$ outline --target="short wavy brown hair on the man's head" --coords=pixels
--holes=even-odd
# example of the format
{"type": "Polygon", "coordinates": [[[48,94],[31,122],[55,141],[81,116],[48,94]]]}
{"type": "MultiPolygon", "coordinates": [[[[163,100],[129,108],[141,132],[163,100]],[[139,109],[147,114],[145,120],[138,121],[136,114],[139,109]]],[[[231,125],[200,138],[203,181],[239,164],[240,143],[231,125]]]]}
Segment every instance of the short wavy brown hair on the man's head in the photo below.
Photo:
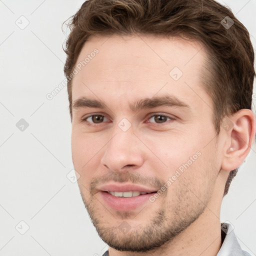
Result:
{"type": "MultiPolygon", "coordinates": [[[[192,38],[203,43],[208,64],[203,76],[213,101],[217,135],[225,116],[251,109],[254,52],[247,29],[231,10],[214,0],[87,0],[71,16],[64,73],[72,119],[71,78],[83,44],[91,35],[153,34],[192,38]]],[[[224,195],[237,169],[230,171],[224,195]]]]}

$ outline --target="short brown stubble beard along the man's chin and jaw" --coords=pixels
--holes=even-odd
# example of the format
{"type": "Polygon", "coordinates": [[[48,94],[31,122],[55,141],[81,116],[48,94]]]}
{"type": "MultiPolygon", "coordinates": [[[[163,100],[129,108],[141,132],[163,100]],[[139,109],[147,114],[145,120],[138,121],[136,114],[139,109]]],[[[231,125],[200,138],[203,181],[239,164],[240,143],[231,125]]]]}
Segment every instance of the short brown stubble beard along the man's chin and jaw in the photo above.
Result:
{"type": "MultiPolygon", "coordinates": [[[[192,205],[188,205],[189,209],[185,208],[185,205],[191,199],[189,197],[190,194],[188,196],[187,193],[189,193],[187,189],[180,190],[174,204],[168,205],[166,202],[162,204],[158,201],[158,205],[165,206],[159,207],[159,209],[148,215],[146,223],[140,224],[139,227],[128,224],[130,212],[114,211],[111,213],[106,208],[103,211],[97,210],[95,203],[98,200],[96,198],[93,199],[93,196],[90,196],[89,200],[85,200],[82,193],[81,197],[92,224],[105,243],[119,251],[148,252],[167,242],[171,242],[179,233],[192,224],[206,208],[210,196],[204,197],[203,201],[194,197],[190,201],[192,205]],[[184,200],[186,203],[184,203],[184,200]],[[120,219],[127,220],[125,224],[127,225],[126,230],[129,229],[128,231],[123,232],[122,228],[120,228],[120,223],[124,222],[120,222],[120,219]],[[116,225],[116,223],[118,224],[116,225]]],[[[148,201],[149,205],[151,203],[148,201]]],[[[98,205],[101,206],[100,203],[98,205]]],[[[143,209],[141,212],[143,212],[143,209]]],[[[139,214],[135,218],[139,219],[139,214]]]]}

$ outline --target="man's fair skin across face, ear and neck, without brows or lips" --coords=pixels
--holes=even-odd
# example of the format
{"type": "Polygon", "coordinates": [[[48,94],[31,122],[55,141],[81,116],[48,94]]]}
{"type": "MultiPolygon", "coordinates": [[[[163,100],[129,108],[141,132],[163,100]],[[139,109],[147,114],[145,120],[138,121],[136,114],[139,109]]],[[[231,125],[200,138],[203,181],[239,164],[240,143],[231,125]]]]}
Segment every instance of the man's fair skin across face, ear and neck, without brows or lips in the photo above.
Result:
{"type": "Polygon", "coordinates": [[[221,246],[220,206],[229,171],[247,156],[255,133],[251,110],[229,116],[233,126],[220,133],[212,122],[212,100],[201,72],[207,52],[198,41],[146,35],[93,36],[77,63],[99,50],[73,77],[72,102],[100,99],[106,108],[72,109],[72,160],[84,204],[109,255],[216,255],[221,246]],[[182,71],[178,80],[169,72],[182,71]],[[157,106],[133,112],[134,100],[164,94],[190,106],[157,106]],[[83,118],[100,114],[101,122],[83,118]],[[166,118],[159,122],[153,114],[166,118]],[[126,118],[131,127],[118,123],[126,118]],[[158,123],[157,123],[158,122],[158,123]],[[94,126],[88,126],[88,123],[94,126]],[[230,148],[232,148],[230,150],[230,148]],[[160,189],[182,163],[201,154],[154,202],[117,211],[97,187],[106,182],[160,189]],[[93,183],[92,183],[93,181],[93,183]],[[92,186],[94,184],[94,186],[92,186]],[[122,232],[120,225],[128,227],[122,232]]]}

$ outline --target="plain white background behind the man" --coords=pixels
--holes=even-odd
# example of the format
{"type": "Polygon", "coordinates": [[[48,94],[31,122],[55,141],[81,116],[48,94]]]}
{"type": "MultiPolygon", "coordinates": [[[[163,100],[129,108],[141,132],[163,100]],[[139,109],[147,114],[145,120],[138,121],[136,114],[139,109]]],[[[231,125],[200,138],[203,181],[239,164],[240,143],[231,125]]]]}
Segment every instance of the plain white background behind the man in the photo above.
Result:
{"type": "MultiPolygon", "coordinates": [[[[66,87],[52,100],[46,98],[64,79],[66,35],[61,24],[81,3],[0,0],[1,256],[101,255],[107,249],[89,220],[77,183],[66,177],[73,168],[66,87]],[[29,21],[24,29],[15,23],[21,15],[29,21]],[[29,124],[24,131],[16,127],[21,118],[29,124]],[[29,226],[23,235],[15,229],[21,220],[29,226]]],[[[255,48],[256,0],[224,4],[247,27],[255,48]]],[[[256,254],[255,166],[254,144],[221,210],[221,221],[234,225],[241,247],[252,255],[256,254]]],[[[25,224],[21,226],[24,230],[25,224]]]]}

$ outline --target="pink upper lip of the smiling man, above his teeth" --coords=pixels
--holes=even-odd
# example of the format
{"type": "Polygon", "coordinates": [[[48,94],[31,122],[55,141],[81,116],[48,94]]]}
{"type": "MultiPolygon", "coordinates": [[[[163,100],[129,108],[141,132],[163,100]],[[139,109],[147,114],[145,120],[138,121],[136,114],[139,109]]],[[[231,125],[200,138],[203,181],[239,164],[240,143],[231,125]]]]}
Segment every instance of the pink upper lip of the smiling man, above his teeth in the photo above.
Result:
{"type": "Polygon", "coordinates": [[[147,192],[147,193],[155,192],[158,190],[158,189],[149,188],[149,187],[145,187],[138,184],[116,184],[116,183],[105,184],[98,187],[98,189],[101,191],[112,191],[112,192],[138,191],[138,192],[147,192]]]}

